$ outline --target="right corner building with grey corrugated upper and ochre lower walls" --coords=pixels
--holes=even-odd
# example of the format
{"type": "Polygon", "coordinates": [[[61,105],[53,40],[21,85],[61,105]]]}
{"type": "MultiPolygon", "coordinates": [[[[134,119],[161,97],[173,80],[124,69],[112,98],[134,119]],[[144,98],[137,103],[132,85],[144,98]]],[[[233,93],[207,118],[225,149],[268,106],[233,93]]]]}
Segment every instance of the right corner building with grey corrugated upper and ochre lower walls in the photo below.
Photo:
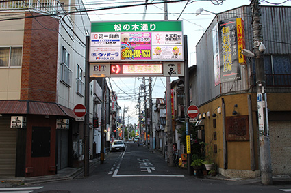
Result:
{"type": "MultiPolygon", "coordinates": [[[[272,173],[290,174],[291,8],[261,6],[261,13],[272,173]]],[[[260,176],[257,70],[251,57],[238,63],[243,56],[237,44],[244,33],[245,48],[253,50],[252,15],[247,5],[216,14],[196,46],[197,69],[190,74],[190,104],[199,106],[196,125],[205,133],[205,153],[228,177],[260,176]]]]}

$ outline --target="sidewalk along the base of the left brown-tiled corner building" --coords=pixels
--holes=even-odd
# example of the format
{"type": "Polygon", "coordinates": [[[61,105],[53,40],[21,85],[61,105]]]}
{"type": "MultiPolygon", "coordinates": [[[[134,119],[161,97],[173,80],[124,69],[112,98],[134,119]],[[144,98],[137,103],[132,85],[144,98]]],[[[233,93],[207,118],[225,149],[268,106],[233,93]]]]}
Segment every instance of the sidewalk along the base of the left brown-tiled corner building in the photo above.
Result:
{"type": "MultiPolygon", "coordinates": [[[[91,168],[100,159],[89,160],[89,167],[91,168]]],[[[84,167],[81,168],[64,168],[58,171],[56,175],[47,175],[47,176],[40,176],[40,177],[5,177],[2,179],[0,177],[0,188],[7,188],[7,187],[16,187],[19,185],[29,185],[34,183],[45,183],[50,181],[62,181],[68,179],[74,179],[84,173],[84,167]]]]}

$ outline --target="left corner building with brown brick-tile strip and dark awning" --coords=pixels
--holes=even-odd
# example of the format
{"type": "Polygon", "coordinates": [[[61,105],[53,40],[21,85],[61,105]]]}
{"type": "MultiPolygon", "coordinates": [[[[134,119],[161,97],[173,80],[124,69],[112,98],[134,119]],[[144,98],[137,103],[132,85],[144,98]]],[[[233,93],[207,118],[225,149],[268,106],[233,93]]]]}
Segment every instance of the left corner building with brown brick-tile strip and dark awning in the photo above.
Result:
{"type": "Polygon", "coordinates": [[[2,176],[54,175],[84,157],[84,124],[73,108],[84,104],[90,19],[76,10],[81,1],[0,3],[2,176]]]}

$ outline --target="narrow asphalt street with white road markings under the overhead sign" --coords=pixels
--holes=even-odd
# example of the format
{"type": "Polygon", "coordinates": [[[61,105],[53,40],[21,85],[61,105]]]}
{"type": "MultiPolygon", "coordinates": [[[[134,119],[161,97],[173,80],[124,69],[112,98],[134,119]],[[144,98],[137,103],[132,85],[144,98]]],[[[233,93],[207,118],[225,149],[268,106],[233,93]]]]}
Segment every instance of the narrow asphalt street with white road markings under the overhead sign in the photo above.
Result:
{"type": "Polygon", "coordinates": [[[0,192],[288,192],[291,188],[190,176],[186,169],[168,167],[160,153],[134,142],[125,145],[125,151],[106,155],[104,164],[97,162],[89,177],[0,188],[0,192]]]}

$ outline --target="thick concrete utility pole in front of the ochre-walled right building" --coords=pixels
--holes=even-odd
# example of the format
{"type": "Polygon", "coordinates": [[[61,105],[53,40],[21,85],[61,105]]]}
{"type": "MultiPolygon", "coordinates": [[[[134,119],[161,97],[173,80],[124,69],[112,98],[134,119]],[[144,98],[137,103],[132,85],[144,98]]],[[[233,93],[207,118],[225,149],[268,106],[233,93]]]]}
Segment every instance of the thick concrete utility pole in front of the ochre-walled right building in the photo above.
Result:
{"type": "Polygon", "coordinates": [[[260,13],[260,1],[251,2],[253,11],[253,52],[255,53],[255,74],[257,88],[257,113],[260,136],[260,168],[261,179],[264,185],[272,185],[272,166],[270,157],[270,136],[268,134],[268,108],[265,93],[266,77],[264,69],[264,58],[259,46],[262,44],[262,23],[260,13]]]}

